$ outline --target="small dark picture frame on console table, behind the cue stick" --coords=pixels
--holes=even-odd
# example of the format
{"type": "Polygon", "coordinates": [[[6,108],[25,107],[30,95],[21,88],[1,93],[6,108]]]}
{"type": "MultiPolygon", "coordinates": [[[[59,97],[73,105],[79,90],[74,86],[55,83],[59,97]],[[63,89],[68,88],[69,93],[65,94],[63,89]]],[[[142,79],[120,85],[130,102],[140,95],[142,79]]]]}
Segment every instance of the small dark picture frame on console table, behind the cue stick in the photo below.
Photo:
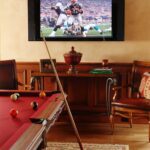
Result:
{"type": "MultiPolygon", "coordinates": [[[[56,59],[52,59],[54,65],[56,65],[56,59]]],[[[53,67],[50,59],[40,59],[40,72],[50,73],[53,72],[53,67]]]]}

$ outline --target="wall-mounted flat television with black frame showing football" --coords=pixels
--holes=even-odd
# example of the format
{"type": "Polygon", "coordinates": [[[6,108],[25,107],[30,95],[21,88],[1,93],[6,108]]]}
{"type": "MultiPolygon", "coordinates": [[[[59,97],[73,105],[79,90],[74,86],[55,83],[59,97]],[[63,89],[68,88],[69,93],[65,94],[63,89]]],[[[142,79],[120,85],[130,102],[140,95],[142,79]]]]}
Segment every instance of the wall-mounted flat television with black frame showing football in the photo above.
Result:
{"type": "Polygon", "coordinates": [[[123,41],[124,0],[28,0],[28,39],[123,41]]]}

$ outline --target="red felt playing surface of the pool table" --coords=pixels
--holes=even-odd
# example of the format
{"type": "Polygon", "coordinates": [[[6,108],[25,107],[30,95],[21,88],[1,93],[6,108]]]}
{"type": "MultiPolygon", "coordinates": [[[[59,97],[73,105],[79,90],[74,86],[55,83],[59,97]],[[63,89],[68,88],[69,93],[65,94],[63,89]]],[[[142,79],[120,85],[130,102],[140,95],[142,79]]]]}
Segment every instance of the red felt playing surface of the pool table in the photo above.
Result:
{"type": "MultiPolygon", "coordinates": [[[[17,91],[14,91],[15,93],[17,91]]],[[[10,98],[12,92],[1,92],[0,91],[0,149],[7,145],[12,145],[12,142],[16,142],[15,139],[26,131],[31,126],[30,118],[41,118],[41,114],[45,111],[46,107],[57,100],[60,97],[60,93],[47,92],[45,98],[39,97],[39,91],[34,92],[22,92],[18,91],[20,94],[18,100],[13,101],[10,98]],[[2,95],[2,96],[1,96],[2,95]],[[33,110],[31,107],[31,102],[36,101],[38,103],[38,109],[33,110]],[[18,110],[18,115],[13,118],[10,115],[10,110],[14,108],[18,110]],[[16,136],[16,138],[12,138],[16,136]],[[11,140],[10,140],[11,138],[11,140]],[[11,142],[8,142],[11,141],[11,142]],[[5,144],[7,143],[7,144],[5,144]],[[10,143],[10,144],[9,144],[10,143]]]]}

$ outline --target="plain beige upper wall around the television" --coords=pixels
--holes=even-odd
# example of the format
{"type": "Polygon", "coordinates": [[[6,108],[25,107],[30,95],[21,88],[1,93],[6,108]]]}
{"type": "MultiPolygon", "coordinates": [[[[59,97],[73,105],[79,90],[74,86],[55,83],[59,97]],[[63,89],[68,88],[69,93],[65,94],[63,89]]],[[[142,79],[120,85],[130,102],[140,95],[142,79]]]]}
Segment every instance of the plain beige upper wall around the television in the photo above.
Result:
{"type": "MultiPolygon", "coordinates": [[[[125,0],[125,41],[48,42],[53,58],[63,62],[63,54],[75,46],[82,62],[150,61],[150,0],[125,0]]],[[[28,41],[27,0],[2,0],[0,4],[0,59],[39,61],[47,58],[42,42],[28,41]]]]}

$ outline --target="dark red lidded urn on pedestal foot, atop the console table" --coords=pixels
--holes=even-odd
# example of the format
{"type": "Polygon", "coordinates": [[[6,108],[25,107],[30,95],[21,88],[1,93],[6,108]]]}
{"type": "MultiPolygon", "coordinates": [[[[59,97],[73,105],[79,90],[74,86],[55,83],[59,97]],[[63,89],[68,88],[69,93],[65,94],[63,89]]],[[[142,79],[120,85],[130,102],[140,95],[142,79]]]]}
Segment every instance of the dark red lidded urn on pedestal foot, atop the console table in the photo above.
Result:
{"type": "Polygon", "coordinates": [[[71,47],[71,51],[64,54],[64,59],[67,65],[69,65],[69,69],[67,71],[68,74],[77,74],[78,71],[76,69],[76,65],[78,65],[81,61],[82,53],[76,52],[74,47],[71,47]]]}

